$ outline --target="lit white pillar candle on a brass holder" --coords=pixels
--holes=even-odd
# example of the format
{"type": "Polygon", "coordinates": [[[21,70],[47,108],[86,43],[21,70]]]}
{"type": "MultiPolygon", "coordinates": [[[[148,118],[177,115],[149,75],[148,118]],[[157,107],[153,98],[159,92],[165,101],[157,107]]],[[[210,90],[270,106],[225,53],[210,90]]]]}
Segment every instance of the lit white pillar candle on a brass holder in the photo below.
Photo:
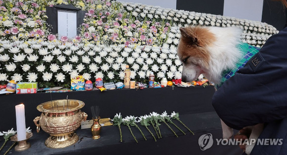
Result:
{"type": "Polygon", "coordinates": [[[17,139],[18,141],[26,139],[26,124],[25,124],[25,106],[19,104],[15,106],[16,109],[16,125],[17,125],[17,139]]]}

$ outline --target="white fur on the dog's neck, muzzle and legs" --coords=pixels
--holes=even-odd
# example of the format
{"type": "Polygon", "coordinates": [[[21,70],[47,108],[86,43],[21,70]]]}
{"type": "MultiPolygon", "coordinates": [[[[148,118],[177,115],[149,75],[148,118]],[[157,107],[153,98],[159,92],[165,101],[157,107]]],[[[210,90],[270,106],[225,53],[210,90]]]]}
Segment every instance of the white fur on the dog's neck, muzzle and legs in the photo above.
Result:
{"type": "MultiPolygon", "coordinates": [[[[240,43],[241,29],[237,27],[220,28],[220,27],[205,27],[207,31],[214,34],[213,42],[208,42],[205,48],[210,59],[208,66],[201,64],[198,57],[191,56],[189,61],[191,63],[183,63],[182,76],[186,81],[193,81],[202,73],[209,81],[219,84],[221,81],[221,74],[224,70],[233,69],[236,63],[243,57],[243,53],[239,51],[237,45],[240,43]]],[[[179,44],[181,46],[181,44],[179,44]]],[[[179,58],[183,61],[184,57],[181,51],[178,51],[179,58]]],[[[223,121],[222,130],[223,138],[230,139],[233,136],[233,129],[228,127],[223,121]]],[[[263,124],[249,126],[253,129],[249,139],[256,139],[263,130],[263,124]]],[[[255,144],[246,145],[245,153],[250,155],[255,144]]]]}

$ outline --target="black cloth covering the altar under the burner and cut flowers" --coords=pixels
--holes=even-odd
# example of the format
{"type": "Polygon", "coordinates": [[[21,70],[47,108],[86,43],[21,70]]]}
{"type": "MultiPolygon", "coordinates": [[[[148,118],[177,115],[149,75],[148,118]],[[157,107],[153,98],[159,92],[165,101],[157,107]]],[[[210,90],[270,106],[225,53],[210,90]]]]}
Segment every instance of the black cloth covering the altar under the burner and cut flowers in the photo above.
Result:
{"type": "MultiPolygon", "coordinates": [[[[80,139],[75,145],[63,149],[49,149],[44,142],[48,134],[41,130],[36,132],[36,126],[33,119],[40,116],[36,109],[37,105],[49,101],[50,93],[36,94],[9,94],[1,95],[0,108],[0,131],[6,131],[11,127],[16,129],[15,108],[14,106],[23,102],[25,104],[26,126],[31,126],[34,136],[29,139],[32,147],[23,152],[15,152],[12,149],[9,153],[12,155],[240,155],[241,150],[238,146],[216,145],[215,138],[222,137],[220,119],[216,115],[211,105],[211,97],[214,88],[209,87],[192,87],[172,89],[144,89],[144,90],[108,90],[100,91],[83,91],[69,93],[52,93],[52,99],[65,99],[68,95],[70,99],[78,99],[85,102],[81,109],[88,114],[91,119],[92,105],[100,106],[101,118],[113,118],[115,113],[121,112],[123,117],[127,115],[145,115],[154,111],[162,113],[172,111],[180,113],[181,120],[191,128],[194,135],[191,134],[178,121],[174,121],[185,133],[169,124],[179,135],[176,137],[171,130],[163,123],[160,125],[162,138],[155,142],[149,132],[140,126],[147,140],[145,141],[137,128],[132,126],[132,130],[139,143],[136,143],[127,126],[122,125],[123,142],[119,142],[120,135],[117,126],[103,126],[101,138],[93,140],[91,138],[91,129],[78,128],[75,132],[80,139]],[[198,145],[198,138],[202,134],[211,133],[214,144],[210,149],[201,151],[198,145]]],[[[152,126],[149,129],[156,136],[152,126]]],[[[0,137],[0,145],[3,139],[0,137]]],[[[3,154],[12,142],[8,141],[0,154],[3,154]]]]}

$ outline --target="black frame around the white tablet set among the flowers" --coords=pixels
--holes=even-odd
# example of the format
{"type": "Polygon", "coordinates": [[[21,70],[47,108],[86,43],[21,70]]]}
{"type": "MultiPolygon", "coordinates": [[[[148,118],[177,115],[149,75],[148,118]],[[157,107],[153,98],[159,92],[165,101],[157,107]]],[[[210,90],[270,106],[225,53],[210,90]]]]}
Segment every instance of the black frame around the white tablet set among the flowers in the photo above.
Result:
{"type": "Polygon", "coordinates": [[[53,7],[47,6],[46,13],[48,16],[48,29],[52,34],[58,34],[58,10],[77,12],[77,35],[80,34],[79,27],[84,23],[84,16],[87,11],[81,10],[72,4],[59,4],[53,7]]]}

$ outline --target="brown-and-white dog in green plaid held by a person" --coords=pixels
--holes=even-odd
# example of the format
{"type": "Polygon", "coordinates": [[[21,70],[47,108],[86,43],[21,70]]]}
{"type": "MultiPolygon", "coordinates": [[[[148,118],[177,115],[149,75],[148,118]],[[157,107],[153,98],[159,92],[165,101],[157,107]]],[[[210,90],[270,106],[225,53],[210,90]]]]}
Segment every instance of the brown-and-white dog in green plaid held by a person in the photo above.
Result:
{"type": "MultiPolygon", "coordinates": [[[[237,69],[237,63],[244,54],[239,45],[242,31],[236,27],[199,27],[180,28],[182,37],[178,44],[178,57],[183,62],[182,81],[193,81],[203,74],[215,85],[222,84],[222,73],[237,69]]],[[[223,138],[230,139],[233,129],[221,121],[223,138]]],[[[263,129],[263,124],[249,126],[252,133],[249,137],[256,139],[263,129]]],[[[245,153],[249,155],[254,147],[246,145],[245,153]]]]}

